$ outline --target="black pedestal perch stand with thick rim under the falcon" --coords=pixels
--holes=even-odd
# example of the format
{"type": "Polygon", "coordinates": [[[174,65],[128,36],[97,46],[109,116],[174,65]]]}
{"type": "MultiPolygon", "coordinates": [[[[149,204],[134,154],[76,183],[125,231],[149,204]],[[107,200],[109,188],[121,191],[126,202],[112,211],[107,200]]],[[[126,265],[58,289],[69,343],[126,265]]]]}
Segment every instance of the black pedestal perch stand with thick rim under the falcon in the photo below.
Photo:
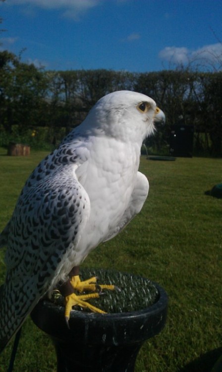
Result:
{"type": "MultiPolygon", "coordinates": [[[[98,275],[97,271],[93,274],[98,275]]],[[[137,279],[138,276],[130,276],[131,282],[136,283],[137,279]]],[[[41,301],[31,317],[53,340],[57,372],[133,372],[144,341],[160,333],[166,323],[166,292],[150,283],[157,294],[153,305],[108,314],[71,311],[70,329],[64,320],[63,306],[41,301]]],[[[144,296],[143,289],[141,292],[144,296]]]]}

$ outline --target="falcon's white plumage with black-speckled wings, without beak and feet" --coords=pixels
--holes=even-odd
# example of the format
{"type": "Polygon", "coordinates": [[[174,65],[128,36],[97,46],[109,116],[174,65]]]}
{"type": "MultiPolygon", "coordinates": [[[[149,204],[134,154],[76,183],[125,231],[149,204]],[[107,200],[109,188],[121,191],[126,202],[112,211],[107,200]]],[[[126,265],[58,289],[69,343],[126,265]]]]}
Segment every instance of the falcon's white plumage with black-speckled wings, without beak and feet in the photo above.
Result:
{"type": "Polygon", "coordinates": [[[140,148],[155,110],[140,93],[103,97],[30,175],[0,235],[7,245],[0,350],[40,298],[141,210],[149,183],[138,172],[140,148]]]}

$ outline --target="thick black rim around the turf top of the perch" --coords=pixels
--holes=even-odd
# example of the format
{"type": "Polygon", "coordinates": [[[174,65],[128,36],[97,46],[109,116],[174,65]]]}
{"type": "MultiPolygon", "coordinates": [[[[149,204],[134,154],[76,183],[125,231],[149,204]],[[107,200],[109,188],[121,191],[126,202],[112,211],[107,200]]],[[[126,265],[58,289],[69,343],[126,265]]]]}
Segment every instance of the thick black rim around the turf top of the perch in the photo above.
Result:
{"type": "Polygon", "coordinates": [[[73,310],[68,328],[64,307],[43,300],[32,311],[31,317],[40,329],[60,341],[76,340],[78,343],[91,345],[142,342],[160,333],[166,323],[166,292],[157,283],[151,283],[157,287],[159,297],[153,305],[143,310],[108,314],[73,310]]]}

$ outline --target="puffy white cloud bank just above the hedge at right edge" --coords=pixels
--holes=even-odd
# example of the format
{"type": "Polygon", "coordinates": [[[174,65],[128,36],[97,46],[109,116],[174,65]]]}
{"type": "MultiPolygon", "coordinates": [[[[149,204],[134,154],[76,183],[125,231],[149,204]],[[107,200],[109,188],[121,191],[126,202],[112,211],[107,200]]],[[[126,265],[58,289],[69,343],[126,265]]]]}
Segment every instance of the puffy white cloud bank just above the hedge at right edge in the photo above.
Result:
{"type": "Polygon", "coordinates": [[[159,58],[163,61],[175,64],[187,63],[222,63],[222,44],[205,45],[196,50],[185,47],[166,47],[159,53],[159,58]]]}

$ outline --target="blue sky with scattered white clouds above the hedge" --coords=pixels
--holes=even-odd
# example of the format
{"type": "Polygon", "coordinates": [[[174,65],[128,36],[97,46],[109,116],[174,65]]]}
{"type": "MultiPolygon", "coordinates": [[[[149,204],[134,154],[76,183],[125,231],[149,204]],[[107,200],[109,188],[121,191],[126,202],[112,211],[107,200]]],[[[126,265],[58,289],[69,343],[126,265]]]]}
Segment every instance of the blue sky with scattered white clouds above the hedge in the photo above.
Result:
{"type": "Polygon", "coordinates": [[[47,69],[222,61],[222,0],[5,0],[0,46],[47,69]]]}

